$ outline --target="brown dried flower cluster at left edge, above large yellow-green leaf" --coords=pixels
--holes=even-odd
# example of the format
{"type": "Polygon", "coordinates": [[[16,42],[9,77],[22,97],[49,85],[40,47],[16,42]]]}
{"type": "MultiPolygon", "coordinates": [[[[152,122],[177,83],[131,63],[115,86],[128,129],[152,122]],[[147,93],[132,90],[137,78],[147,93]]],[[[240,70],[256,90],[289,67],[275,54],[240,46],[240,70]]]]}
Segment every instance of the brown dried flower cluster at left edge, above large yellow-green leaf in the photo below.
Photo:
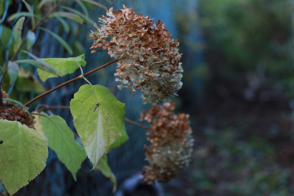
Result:
{"type": "MultiPolygon", "coordinates": [[[[1,88],[1,93],[3,98],[9,98],[9,94],[6,94],[5,91],[1,88]]],[[[11,101],[3,100],[4,104],[11,103],[11,101]]],[[[29,128],[34,128],[34,123],[36,123],[35,120],[31,120],[29,114],[26,112],[26,110],[22,107],[19,107],[17,104],[15,106],[12,106],[11,108],[3,108],[0,106],[0,118],[14,121],[16,117],[16,120],[20,122],[22,125],[26,125],[29,128]]],[[[34,119],[35,117],[32,116],[34,119]]]]}

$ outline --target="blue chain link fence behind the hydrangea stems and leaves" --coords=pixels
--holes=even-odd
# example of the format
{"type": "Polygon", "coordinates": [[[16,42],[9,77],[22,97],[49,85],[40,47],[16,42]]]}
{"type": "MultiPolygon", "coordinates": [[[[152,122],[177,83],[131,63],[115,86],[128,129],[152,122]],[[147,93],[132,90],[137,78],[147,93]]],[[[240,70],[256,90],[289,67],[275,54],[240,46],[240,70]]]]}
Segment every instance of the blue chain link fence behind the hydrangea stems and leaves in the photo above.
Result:
{"type": "MultiPolygon", "coordinates": [[[[11,57],[11,50],[9,47],[13,43],[13,33],[11,33],[9,39],[2,39],[4,38],[3,33],[7,33],[4,32],[4,28],[10,28],[11,32],[13,32],[14,25],[17,21],[17,19],[15,19],[11,22],[7,22],[7,18],[12,14],[11,12],[21,12],[25,8],[21,0],[15,0],[10,6],[8,0],[1,1],[2,16],[0,21],[0,64],[3,66],[7,64],[9,57],[11,57]]],[[[33,3],[32,1],[28,2],[33,3]]],[[[161,21],[165,22],[166,28],[169,32],[171,32],[171,34],[173,34],[173,38],[177,38],[178,32],[176,30],[173,14],[176,11],[175,8],[179,7],[179,1],[173,1],[173,4],[171,4],[171,1],[168,0],[151,0],[148,2],[148,4],[143,0],[118,0],[113,1],[113,5],[109,4],[108,2],[100,3],[105,4],[108,8],[113,6],[114,10],[122,9],[122,5],[125,4],[128,7],[133,7],[135,12],[138,11],[139,13],[144,14],[144,16],[151,16],[151,18],[155,18],[154,21],[160,19],[161,21]]],[[[67,4],[67,6],[79,10],[79,6],[75,4],[74,1],[67,4]]],[[[36,9],[36,7],[34,9],[36,9]]],[[[89,11],[89,14],[90,18],[98,24],[98,17],[101,17],[103,14],[105,15],[105,10],[99,7],[95,7],[93,10],[89,11]]],[[[91,32],[91,29],[95,29],[92,24],[80,25],[70,20],[66,21],[70,25],[69,33],[66,33],[62,26],[59,25],[59,21],[55,19],[48,20],[42,25],[42,27],[59,34],[67,43],[69,43],[69,45],[74,49],[74,56],[85,53],[85,61],[87,62],[87,65],[83,68],[84,73],[112,60],[106,52],[90,54],[91,50],[89,48],[91,47],[93,40],[88,36],[88,34],[91,32]]],[[[23,38],[29,29],[29,18],[26,18],[22,33],[23,38]]],[[[40,31],[38,29],[36,31],[36,37],[36,43],[30,52],[39,58],[69,57],[69,54],[66,52],[64,47],[62,47],[59,42],[56,41],[56,39],[50,36],[49,33],[40,31]]],[[[19,57],[20,55],[18,58],[19,57]]],[[[26,68],[26,66],[28,65],[24,65],[24,68],[26,68]]],[[[141,92],[129,95],[127,90],[123,89],[122,91],[119,91],[116,88],[118,83],[115,81],[115,77],[113,76],[115,69],[116,65],[112,64],[95,73],[92,73],[91,75],[87,76],[87,79],[92,84],[100,84],[110,88],[111,92],[113,92],[118,100],[126,104],[127,113],[125,117],[134,121],[138,121],[139,111],[144,107],[150,107],[150,105],[143,106],[141,104],[141,92]]],[[[34,74],[36,77],[38,76],[36,69],[34,70],[34,74]]],[[[77,70],[75,73],[66,75],[63,78],[49,78],[45,83],[43,83],[43,85],[47,90],[49,90],[79,75],[80,70],[77,70]]],[[[34,108],[40,103],[45,103],[47,105],[69,105],[69,102],[73,98],[74,93],[76,93],[79,87],[83,84],[86,84],[84,80],[78,80],[70,83],[38,100],[35,105],[29,105],[29,108],[34,108]]],[[[15,83],[13,83],[9,89],[4,90],[6,90],[8,93],[11,93],[13,89],[15,89],[15,83]]],[[[22,93],[19,91],[16,92],[18,93],[19,101],[23,101],[25,97],[23,97],[22,93]]],[[[26,96],[28,96],[27,98],[29,99],[34,98],[35,95],[36,94],[34,91],[26,93],[26,96]]],[[[75,131],[73,117],[70,113],[70,110],[56,109],[52,110],[52,112],[55,115],[60,115],[62,118],[64,118],[69,127],[75,131]]],[[[129,135],[129,140],[120,148],[114,149],[108,154],[108,163],[113,173],[117,177],[118,188],[124,179],[139,172],[143,165],[148,164],[146,161],[144,161],[145,155],[143,150],[143,144],[146,143],[146,130],[128,123],[126,123],[126,130],[129,135]]],[[[65,165],[63,165],[58,160],[56,153],[54,153],[54,151],[50,148],[49,157],[46,164],[47,166],[41,172],[41,174],[38,175],[36,179],[29,182],[29,185],[21,188],[21,190],[19,190],[15,195],[112,195],[112,184],[110,180],[104,177],[99,170],[90,171],[92,166],[88,159],[83,162],[82,168],[78,171],[76,182],[65,165]]],[[[3,190],[3,184],[1,184],[0,191],[3,190]]]]}

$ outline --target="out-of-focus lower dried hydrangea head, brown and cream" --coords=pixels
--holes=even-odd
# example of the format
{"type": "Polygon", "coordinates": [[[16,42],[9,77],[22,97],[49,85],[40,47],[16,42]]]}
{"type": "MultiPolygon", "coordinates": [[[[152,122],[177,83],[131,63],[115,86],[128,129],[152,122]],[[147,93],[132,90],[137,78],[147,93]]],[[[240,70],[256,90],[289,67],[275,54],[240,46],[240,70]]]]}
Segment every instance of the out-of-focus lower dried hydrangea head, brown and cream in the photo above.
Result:
{"type": "Polygon", "coordinates": [[[141,121],[151,124],[147,133],[151,146],[144,147],[150,166],[144,166],[142,172],[143,181],[149,184],[154,180],[167,182],[189,164],[194,141],[189,115],[176,115],[174,109],[174,103],[153,103],[148,112],[141,112],[141,121]]]}

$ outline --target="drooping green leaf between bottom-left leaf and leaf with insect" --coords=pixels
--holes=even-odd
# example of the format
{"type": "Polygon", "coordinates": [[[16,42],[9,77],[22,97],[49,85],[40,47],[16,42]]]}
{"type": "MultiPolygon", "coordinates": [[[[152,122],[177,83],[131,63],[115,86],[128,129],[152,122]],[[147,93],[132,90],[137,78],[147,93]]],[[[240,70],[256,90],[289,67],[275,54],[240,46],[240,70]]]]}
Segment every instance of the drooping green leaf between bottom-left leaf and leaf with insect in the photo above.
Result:
{"type": "MultiPolygon", "coordinates": [[[[41,114],[47,116],[45,112],[41,114]]],[[[64,163],[76,180],[76,173],[87,157],[85,149],[76,142],[74,133],[60,116],[41,116],[41,124],[49,147],[56,152],[59,160],[64,163]]]]}

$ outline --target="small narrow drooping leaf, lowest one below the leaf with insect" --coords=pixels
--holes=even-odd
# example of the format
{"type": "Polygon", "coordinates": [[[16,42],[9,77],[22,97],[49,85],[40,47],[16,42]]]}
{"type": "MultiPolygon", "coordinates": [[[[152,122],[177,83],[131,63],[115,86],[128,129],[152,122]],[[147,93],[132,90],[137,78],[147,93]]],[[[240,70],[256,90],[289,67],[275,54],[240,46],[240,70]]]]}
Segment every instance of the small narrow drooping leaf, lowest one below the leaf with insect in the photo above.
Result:
{"type": "Polygon", "coordinates": [[[111,171],[108,163],[107,163],[107,156],[106,154],[104,154],[101,159],[99,160],[99,162],[97,163],[96,166],[102,173],[103,175],[105,175],[106,177],[108,177],[110,179],[110,181],[113,184],[113,189],[112,192],[114,193],[116,191],[116,177],[113,174],[113,172],[111,171]]]}

